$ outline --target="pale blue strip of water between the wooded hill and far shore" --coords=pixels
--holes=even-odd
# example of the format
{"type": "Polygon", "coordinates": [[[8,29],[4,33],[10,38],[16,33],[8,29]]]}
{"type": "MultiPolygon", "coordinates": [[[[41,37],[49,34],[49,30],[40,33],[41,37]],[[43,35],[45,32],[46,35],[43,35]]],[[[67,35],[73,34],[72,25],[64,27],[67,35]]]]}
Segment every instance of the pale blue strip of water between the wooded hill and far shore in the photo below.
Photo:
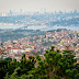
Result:
{"type": "MultiPolygon", "coordinates": [[[[24,25],[0,25],[0,29],[20,29],[24,25]]],[[[41,25],[27,26],[27,30],[42,30],[42,31],[49,31],[49,30],[57,30],[57,29],[79,31],[79,26],[41,26],[41,25]]]]}

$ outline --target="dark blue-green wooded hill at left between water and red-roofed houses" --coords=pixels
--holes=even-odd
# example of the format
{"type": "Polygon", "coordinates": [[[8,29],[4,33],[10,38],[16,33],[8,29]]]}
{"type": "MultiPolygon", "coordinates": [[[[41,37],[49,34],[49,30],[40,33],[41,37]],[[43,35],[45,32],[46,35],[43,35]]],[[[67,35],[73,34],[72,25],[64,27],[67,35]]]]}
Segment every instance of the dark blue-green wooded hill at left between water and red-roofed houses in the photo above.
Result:
{"type": "Polygon", "coordinates": [[[2,42],[4,41],[8,41],[8,40],[19,40],[19,38],[22,38],[22,37],[25,37],[25,36],[33,36],[33,35],[36,35],[38,33],[44,33],[40,30],[21,30],[21,29],[18,29],[18,30],[1,30],[0,32],[0,38],[2,42]]]}

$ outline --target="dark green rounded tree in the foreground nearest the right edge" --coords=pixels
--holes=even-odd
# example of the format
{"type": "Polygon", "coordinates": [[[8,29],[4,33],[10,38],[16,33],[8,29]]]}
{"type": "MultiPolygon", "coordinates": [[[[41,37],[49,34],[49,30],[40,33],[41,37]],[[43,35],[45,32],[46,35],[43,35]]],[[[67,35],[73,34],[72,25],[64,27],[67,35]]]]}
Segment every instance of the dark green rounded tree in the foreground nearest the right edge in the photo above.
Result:
{"type": "Polygon", "coordinates": [[[64,50],[59,63],[61,70],[60,76],[65,79],[78,79],[78,69],[75,67],[77,59],[75,58],[72,50],[64,50]]]}

